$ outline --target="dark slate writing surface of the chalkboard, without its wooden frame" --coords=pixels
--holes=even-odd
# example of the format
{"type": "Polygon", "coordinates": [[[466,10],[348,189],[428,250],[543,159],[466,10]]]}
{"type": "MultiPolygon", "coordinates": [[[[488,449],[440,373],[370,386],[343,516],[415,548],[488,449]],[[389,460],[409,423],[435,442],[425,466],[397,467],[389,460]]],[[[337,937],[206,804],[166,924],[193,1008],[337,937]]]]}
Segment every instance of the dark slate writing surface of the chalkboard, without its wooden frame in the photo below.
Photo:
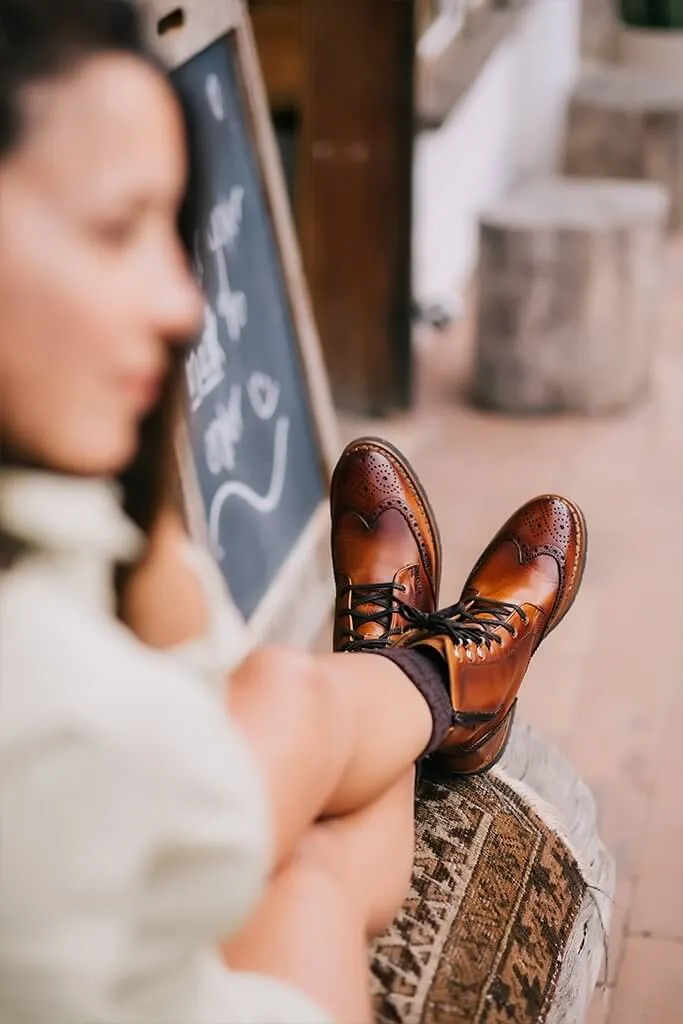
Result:
{"type": "Polygon", "coordinates": [[[326,484],[231,43],[174,77],[202,167],[195,255],[206,303],[186,365],[190,436],[211,547],[249,618],[326,484]]]}

